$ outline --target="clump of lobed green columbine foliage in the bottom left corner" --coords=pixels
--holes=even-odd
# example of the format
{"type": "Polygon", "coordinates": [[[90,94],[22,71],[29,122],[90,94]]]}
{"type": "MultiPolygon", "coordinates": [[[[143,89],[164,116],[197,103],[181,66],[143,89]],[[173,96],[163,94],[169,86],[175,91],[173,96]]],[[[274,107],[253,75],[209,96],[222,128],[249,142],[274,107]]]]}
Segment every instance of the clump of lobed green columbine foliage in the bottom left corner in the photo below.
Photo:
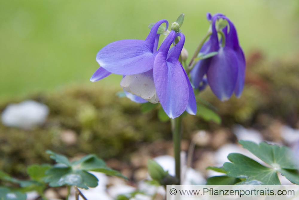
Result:
{"type": "Polygon", "coordinates": [[[18,199],[25,200],[25,192],[36,191],[45,198],[44,190],[48,187],[74,186],[84,189],[96,187],[98,179],[88,171],[102,172],[106,175],[118,176],[127,179],[120,172],[112,170],[97,156],[90,154],[80,160],[70,162],[67,157],[47,151],[56,165],[48,164],[32,165],[27,168],[30,180],[19,180],[0,171],[0,180],[4,186],[0,186],[0,200],[18,199]]]}

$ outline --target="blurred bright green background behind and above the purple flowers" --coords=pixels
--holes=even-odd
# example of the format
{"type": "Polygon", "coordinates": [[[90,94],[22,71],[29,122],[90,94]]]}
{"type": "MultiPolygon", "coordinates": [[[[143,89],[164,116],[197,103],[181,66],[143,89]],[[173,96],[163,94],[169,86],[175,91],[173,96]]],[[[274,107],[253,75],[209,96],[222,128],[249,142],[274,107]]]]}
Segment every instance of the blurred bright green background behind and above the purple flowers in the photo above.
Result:
{"type": "Polygon", "coordinates": [[[298,55],[297,0],[1,0],[0,98],[71,83],[118,87],[116,75],[89,82],[101,48],[145,39],[149,23],[171,23],[184,13],[181,29],[191,55],[208,29],[207,12],[234,22],[245,54],[260,49],[271,59],[298,55]]]}

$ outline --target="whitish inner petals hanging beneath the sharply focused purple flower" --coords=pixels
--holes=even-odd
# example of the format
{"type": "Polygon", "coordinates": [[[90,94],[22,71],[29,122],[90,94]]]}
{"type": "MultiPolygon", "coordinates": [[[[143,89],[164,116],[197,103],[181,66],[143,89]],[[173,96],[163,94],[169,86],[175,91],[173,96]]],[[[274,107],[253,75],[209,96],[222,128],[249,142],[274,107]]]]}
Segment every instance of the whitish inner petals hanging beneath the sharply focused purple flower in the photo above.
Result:
{"type": "Polygon", "coordinates": [[[134,75],[126,75],[120,81],[120,87],[123,87],[125,91],[135,94],[143,99],[149,100],[150,102],[152,102],[152,100],[155,101],[156,99],[156,88],[152,71],[134,75]]]}

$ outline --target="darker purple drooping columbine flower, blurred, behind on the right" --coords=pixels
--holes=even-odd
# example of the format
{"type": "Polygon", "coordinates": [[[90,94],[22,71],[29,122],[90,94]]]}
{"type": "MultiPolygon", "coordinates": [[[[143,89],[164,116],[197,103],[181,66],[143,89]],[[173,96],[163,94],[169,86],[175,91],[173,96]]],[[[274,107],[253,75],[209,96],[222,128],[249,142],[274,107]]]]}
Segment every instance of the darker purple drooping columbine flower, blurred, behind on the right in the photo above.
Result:
{"type": "Polygon", "coordinates": [[[212,23],[212,34],[200,50],[203,54],[218,52],[213,57],[199,60],[191,70],[191,80],[196,88],[205,81],[205,75],[213,93],[222,101],[228,100],[233,93],[240,97],[245,79],[245,57],[239,46],[237,31],[234,24],[225,15],[207,13],[207,19],[212,23]],[[226,19],[228,26],[222,29],[225,45],[221,46],[216,30],[216,21],[226,19]]]}

